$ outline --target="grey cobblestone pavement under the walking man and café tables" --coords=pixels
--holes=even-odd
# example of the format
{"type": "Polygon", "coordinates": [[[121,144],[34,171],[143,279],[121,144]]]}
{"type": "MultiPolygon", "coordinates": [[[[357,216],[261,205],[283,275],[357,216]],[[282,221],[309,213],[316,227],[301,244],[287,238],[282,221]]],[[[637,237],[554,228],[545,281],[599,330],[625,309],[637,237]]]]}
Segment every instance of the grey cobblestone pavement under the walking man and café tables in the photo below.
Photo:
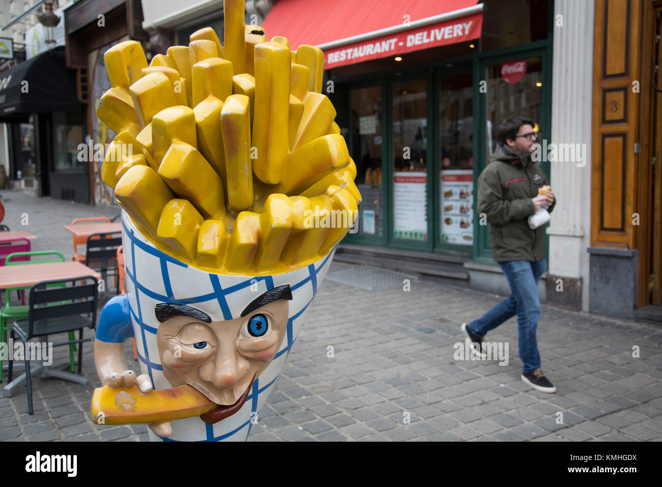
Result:
{"type": "MultiPolygon", "coordinates": [[[[40,237],[33,248],[64,250],[67,258],[71,237],[62,225],[78,216],[117,215],[115,208],[17,191],[3,197],[3,223],[18,229],[27,212],[28,231],[40,237]]],[[[349,267],[334,262],[329,272],[349,267]]],[[[453,345],[464,341],[460,323],[500,299],[428,278],[411,282],[409,292],[325,280],[249,441],[661,439],[659,327],[542,305],[540,355],[557,387],[544,394],[520,380],[515,319],[487,337],[509,345],[508,364],[453,356],[453,345]]],[[[64,349],[56,347],[55,364],[67,361],[64,349]]],[[[87,386],[34,379],[34,415],[26,413],[24,387],[0,398],[0,440],[147,440],[143,425],[91,422],[89,401],[99,386],[92,349],[83,346],[87,386]]],[[[130,356],[128,344],[126,351],[130,356]]]]}

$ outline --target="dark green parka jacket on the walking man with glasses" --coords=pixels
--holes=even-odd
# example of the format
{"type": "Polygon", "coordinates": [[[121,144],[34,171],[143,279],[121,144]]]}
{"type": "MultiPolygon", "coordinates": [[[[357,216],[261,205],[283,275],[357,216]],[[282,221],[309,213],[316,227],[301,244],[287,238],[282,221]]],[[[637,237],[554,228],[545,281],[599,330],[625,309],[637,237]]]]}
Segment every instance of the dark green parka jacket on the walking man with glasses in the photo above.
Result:
{"type": "MultiPolygon", "coordinates": [[[[478,178],[478,214],[487,215],[496,262],[545,258],[545,227],[530,229],[528,217],[535,213],[533,197],[538,188],[549,184],[538,162],[530,154],[518,156],[510,148],[498,146],[490,164],[478,178]]],[[[556,199],[547,209],[551,213],[556,199]]]]}

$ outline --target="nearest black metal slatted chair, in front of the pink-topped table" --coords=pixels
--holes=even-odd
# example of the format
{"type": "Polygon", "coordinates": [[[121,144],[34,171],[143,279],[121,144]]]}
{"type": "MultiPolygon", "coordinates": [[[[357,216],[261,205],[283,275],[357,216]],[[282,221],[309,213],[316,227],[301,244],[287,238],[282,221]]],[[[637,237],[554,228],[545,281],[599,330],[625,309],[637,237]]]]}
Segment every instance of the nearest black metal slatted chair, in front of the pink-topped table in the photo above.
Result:
{"type": "MultiPolygon", "coordinates": [[[[28,304],[28,319],[14,322],[11,331],[12,339],[16,335],[24,344],[25,375],[28,389],[28,413],[32,414],[32,378],[30,376],[30,356],[26,344],[36,337],[48,337],[58,333],[69,333],[78,330],[78,339],[54,343],[54,347],[79,343],[78,373],[83,370],[83,342],[94,337],[83,339],[84,328],[95,328],[97,323],[98,281],[93,276],[81,276],[74,279],[51,280],[37,282],[30,288],[28,304]],[[70,286],[68,286],[70,284],[70,286]],[[64,287],[52,287],[52,286],[64,287]],[[83,315],[91,315],[87,318],[83,315]]],[[[48,338],[46,338],[48,340],[48,338]]],[[[13,360],[9,356],[9,382],[13,372],[13,360]]]]}

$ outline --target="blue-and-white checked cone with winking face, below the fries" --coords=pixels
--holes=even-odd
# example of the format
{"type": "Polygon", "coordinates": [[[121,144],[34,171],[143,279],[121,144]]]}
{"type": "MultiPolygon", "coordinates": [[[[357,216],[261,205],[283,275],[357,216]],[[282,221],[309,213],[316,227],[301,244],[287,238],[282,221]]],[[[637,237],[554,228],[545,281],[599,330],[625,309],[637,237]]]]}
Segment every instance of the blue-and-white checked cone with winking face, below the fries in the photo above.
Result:
{"type": "Polygon", "coordinates": [[[334,251],[286,274],[227,276],[164,254],[124,212],[122,230],[125,299],[140,372],[154,386],[150,394],[187,384],[213,403],[199,417],[171,421],[168,437],[151,430],[150,437],[244,441],[301,331],[304,311],[334,251]]]}

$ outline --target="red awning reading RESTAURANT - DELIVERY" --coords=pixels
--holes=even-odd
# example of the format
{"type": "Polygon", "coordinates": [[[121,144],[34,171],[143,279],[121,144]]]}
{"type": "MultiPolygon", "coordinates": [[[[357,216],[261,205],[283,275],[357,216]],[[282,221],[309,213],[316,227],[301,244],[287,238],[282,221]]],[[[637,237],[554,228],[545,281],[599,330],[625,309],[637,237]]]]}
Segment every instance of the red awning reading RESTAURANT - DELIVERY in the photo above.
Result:
{"type": "Polygon", "coordinates": [[[312,44],[324,68],[338,68],[455,44],[481,36],[477,0],[279,0],[262,27],[267,39],[285,36],[291,49],[312,44]]]}

